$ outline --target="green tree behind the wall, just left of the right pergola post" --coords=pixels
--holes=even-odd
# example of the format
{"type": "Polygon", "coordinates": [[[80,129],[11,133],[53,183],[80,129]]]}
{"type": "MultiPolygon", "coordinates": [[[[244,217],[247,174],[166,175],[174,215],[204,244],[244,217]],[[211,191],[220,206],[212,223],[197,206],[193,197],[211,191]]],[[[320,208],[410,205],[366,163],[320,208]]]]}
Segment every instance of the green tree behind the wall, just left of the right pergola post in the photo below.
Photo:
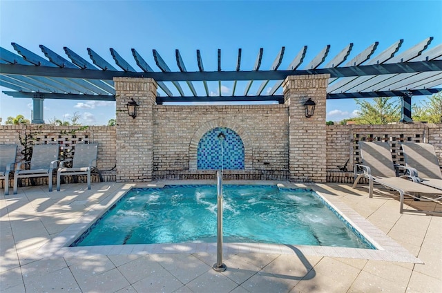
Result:
{"type": "Polygon", "coordinates": [[[401,117],[401,105],[391,97],[375,97],[372,102],[356,100],[359,115],[354,119],[357,124],[388,124],[401,117]]]}

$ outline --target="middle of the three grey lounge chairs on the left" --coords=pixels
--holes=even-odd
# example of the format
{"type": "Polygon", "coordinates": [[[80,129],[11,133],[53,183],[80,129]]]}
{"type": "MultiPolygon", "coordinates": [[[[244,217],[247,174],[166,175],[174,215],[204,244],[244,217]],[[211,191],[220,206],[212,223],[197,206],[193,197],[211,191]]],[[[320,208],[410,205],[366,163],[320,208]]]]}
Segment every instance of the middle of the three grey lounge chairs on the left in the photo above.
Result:
{"type": "Polygon", "coordinates": [[[52,171],[57,167],[58,144],[35,144],[30,162],[19,162],[14,173],[14,194],[20,178],[48,177],[49,191],[52,191],[52,171]],[[30,163],[29,169],[21,170],[23,164],[30,163]]]}

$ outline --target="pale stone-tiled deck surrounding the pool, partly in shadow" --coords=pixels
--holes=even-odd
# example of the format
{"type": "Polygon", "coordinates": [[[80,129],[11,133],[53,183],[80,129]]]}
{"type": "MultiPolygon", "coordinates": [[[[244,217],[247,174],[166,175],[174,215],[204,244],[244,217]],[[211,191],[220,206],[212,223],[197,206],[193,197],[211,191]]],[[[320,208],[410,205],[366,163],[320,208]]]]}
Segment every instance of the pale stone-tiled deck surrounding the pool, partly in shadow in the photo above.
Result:
{"type": "MultiPolygon", "coordinates": [[[[173,182],[143,186],[166,183],[173,182]]],[[[224,243],[227,270],[218,273],[213,243],[65,247],[133,186],[102,182],[87,190],[86,184],[70,184],[59,192],[23,187],[10,196],[1,189],[0,291],[442,292],[442,216],[399,214],[397,196],[376,189],[368,198],[364,185],[308,187],[378,250],[224,243]]],[[[405,203],[442,211],[440,202],[405,203]]]]}

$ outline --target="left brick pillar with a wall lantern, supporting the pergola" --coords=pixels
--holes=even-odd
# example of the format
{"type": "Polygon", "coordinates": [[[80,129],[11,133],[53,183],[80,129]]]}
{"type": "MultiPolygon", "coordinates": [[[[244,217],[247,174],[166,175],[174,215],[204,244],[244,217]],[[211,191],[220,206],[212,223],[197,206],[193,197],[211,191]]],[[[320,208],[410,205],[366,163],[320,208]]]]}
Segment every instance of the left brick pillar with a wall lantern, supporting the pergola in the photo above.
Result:
{"type": "Polygon", "coordinates": [[[151,78],[114,77],[117,106],[117,182],[152,180],[153,105],[157,84],[151,78]],[[135,100],[135,119],[128,115],[126,104],[135,100]]]}

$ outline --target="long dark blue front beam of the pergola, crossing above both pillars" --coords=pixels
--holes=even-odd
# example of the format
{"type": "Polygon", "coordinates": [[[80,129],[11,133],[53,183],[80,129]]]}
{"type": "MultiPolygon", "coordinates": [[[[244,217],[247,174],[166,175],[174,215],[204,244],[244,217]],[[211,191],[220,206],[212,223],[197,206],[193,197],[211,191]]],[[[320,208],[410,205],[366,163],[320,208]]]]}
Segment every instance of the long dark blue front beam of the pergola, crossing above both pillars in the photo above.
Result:
{"type": "Polygon", "coordinates": [[[374,64],[309,70],[252,70],[252,71],[193,71],[193,72],[122,72],[119,70],[90,70],[58,68],[49,66],[28,66],[21,64],[0,64],[0,74],[30,75],[57,78],[107,79],[113,77],[150,77],[157,82],[218,81],[218,80],[282,80],[289,75],[329,74],[330,77],[354,77],[384,75],[392,73],[419,73],[442,71],[442,60],[425,62],[404,62],[395,64],[374,64]]]}

